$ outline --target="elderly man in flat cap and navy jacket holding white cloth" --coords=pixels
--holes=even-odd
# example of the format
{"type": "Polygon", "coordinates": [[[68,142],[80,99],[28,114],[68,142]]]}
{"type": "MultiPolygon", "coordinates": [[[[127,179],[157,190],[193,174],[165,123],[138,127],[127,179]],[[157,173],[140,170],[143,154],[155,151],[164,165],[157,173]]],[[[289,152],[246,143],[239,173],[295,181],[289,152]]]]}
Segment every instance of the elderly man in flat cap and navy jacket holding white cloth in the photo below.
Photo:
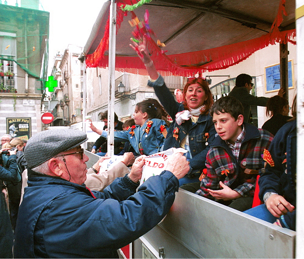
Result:
{"type": "Polygon", "coordinates": [[[178,179],[189,170],[175,154],[160,176],[139,186],[144,156],[104,193],[84,182],[88,157],[78,130],[42,131],[27,142],[28,187],[19,208],[14,258],[118,258],[117,249],[152,229],[168,213],[178,179]]]}

